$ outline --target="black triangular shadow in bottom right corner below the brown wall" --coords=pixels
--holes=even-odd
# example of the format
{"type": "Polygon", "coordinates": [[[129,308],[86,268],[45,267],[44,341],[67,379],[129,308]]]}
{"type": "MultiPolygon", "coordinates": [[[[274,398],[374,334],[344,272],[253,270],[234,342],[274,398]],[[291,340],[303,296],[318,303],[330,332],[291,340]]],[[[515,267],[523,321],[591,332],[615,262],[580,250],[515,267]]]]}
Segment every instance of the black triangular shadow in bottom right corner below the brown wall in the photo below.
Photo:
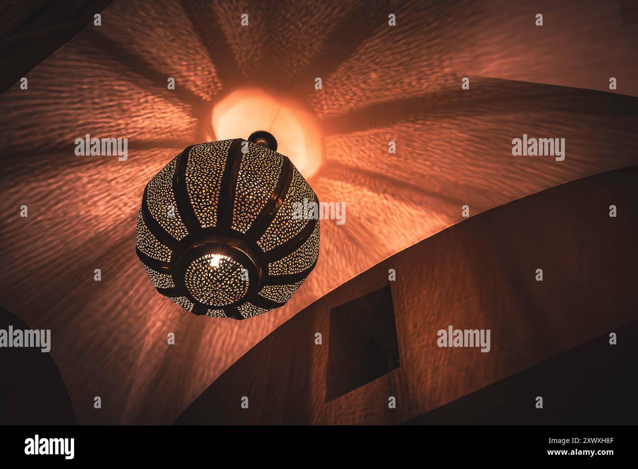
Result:
{"type": "Polygon", "coordinates": [[[604,334],[406,424],[634,425],[638,321],[611,332],[616,345],[604,334]]]}

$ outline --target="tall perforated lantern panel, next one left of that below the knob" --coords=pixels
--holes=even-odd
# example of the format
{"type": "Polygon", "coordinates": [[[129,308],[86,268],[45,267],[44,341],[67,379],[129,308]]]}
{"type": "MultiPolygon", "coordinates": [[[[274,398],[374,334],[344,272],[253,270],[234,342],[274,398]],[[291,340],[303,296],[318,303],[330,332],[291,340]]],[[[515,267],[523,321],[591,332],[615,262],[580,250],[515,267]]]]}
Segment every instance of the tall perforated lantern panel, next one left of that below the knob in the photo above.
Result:
{"type": "Polygon", "coordinates": [[[186,189],[202,227],[217,225],[219,188],[232,140],[195,145],[186,162],[186,189]]]}

